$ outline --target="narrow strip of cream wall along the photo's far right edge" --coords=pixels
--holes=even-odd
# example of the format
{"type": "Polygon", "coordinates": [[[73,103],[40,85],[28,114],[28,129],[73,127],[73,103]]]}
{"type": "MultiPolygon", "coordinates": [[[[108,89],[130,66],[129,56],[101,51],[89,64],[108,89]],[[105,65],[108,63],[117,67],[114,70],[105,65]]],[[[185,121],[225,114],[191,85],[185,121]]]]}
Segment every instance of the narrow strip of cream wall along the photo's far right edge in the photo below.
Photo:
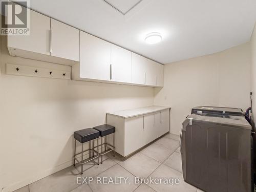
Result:
{"type": "Polygon", "coordinates": [[[256,114],[256,24],[251,36],[251,91],[252,91],[252,112],[255,123],[256,114]]]}

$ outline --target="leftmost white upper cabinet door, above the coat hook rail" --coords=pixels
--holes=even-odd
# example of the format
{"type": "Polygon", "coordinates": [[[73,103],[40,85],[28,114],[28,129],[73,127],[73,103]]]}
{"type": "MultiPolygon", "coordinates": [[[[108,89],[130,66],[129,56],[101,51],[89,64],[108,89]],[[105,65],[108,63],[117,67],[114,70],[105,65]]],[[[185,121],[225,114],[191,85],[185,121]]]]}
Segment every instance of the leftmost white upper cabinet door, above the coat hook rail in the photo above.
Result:
{"type": "Polygon", "coordinates": [[[50,17],[30,10],[30,35],[8,36],[8,47],[50,55],[50,17]]]}

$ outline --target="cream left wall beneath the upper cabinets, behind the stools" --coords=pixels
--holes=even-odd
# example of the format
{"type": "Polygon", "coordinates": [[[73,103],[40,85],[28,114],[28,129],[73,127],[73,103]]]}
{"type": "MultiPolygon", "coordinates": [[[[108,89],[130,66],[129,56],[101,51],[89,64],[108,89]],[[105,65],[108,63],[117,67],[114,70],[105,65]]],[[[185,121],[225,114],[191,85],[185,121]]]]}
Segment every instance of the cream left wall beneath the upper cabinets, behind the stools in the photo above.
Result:
{"type": "Polygon", "coordinates": [[[105,123],[108,111],[153,104],[154,88],[6,75],[7,62],[53,64],[9,56],[2,41],[0,186],[14,190],[70,166],[74,131],[105,123]]]}

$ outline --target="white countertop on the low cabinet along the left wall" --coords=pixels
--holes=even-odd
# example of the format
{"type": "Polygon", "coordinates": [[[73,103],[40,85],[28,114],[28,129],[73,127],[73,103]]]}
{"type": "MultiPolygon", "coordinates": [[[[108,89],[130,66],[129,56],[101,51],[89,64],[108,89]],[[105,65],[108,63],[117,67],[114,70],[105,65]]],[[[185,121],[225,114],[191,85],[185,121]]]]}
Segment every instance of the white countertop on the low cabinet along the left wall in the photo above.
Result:
{"type": "Polygon", "coordinates": [[[170,109],[170,107],[169,106],[152,105],[152,106],[145,106],[144,108],[136,108],[136,109],[131,109],[131,110],[108,112],[106,114],[116,115],[116,116],[123,117],[123,118],[130,118],[130,117],[135,117],[135,116],[139,116],[139,115],[145,115],[145,114],[149,114],[149,113],[163,111],[166,109],[170,109]]]}

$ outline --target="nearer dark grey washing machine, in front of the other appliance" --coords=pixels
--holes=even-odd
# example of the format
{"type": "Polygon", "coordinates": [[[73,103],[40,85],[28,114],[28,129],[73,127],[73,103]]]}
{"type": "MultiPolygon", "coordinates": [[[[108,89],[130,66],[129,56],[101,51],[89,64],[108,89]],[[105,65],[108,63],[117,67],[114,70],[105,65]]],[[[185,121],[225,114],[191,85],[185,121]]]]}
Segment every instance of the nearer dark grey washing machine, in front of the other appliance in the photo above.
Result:
{"type": "Polygon", "coordinates": [[[251,125],[242,116],[191,114],[183,122],[180,150],[187,183],[209,192],[248,192],[251,125]]]}

